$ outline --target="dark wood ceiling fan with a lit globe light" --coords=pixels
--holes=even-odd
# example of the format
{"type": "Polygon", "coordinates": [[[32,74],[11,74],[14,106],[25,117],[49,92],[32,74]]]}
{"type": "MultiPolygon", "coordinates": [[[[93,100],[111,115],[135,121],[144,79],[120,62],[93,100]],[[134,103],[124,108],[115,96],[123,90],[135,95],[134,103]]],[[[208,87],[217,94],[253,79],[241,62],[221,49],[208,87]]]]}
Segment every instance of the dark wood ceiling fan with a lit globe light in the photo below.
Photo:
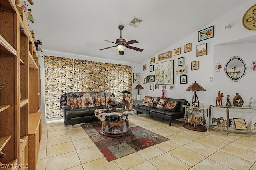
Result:
{"type": "MultiPolygon", "coordinates": [[[[124,26],[119,25],[118,28],[120,30],[120,38],[116,39],[116,42],[111,42],[111,43],[116,44],[115,46],[112,46],[112,47],[116,47],[116,49],[119,51],[119,55],[123,55],[124,50],[126,48],[134,49],[134,50],[140,51],[140,52],[143,51],[143,49],[140,49],[137,47],[132,47],[129,45],[129,44],[133,44],[133,43],[138,43],[136,40],[130,40],[130,41],[126,42],[126,40],[122,38],[122,30],[123,30],[124,26]]],[[[104,40],[104,41],[110,42],[108,40],[104,40]]],[[[107,48],[103,48],[103,49],[108,49],[108,48],[112,48],[112,47],[107,47],[107,48]]],[[[103,50],[103,49],[100,49],[100,50],[103,50]]]]}

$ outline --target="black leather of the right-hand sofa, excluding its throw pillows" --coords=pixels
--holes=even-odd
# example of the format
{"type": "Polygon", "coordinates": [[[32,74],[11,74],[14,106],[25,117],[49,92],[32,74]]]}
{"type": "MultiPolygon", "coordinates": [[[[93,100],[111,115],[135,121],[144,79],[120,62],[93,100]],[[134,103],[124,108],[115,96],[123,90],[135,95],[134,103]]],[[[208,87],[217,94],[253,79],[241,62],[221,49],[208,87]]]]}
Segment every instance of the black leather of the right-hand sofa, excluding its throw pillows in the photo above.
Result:
{"type": "MultiPolygon", "coordinates": [[[[154,98],[154,97],[152,97],[152,98],[154,98]]],[[[162,100],[162,98],[160,98],[160,99],[162,100]]],[[[179,101],[178,106],[176,107],[176,111],[170,111],[168,109],[164,109],[164,107],[162,107],[161,109],[158,109],[159,107],[157,107],[157,106],[159,105],[159,102],[158,102],[157,105],[150,105],[149,104],[149,106],[147,106],[147,105],[145,105],[145,101],[142,102],[142,105],[136,106],[135,110],[137,111],[137,115],[139,113],[147,113],[147,114],[152,115],[153,119],[154,119],[155,116],[161,117],[163,119],[168,119],[169,120],[169,126],[171,126],[172,120],[180,119],[180,118],[184,117],[185,108],[182,107],[182,105],[186,105],[188,103],[188,101],[186,99],[172,99],[172,98],[168,98],[168,101],[179,101]]]]}

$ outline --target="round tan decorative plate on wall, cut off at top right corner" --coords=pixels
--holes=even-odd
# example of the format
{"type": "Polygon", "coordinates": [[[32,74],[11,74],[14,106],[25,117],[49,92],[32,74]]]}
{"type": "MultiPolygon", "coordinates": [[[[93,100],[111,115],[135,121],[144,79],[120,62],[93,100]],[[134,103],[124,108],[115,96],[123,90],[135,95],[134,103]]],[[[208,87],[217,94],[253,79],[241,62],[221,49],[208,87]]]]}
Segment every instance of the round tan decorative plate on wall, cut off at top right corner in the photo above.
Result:
{"type": "Polygon", "coordinates": [[[251,6],[244,14],[243,25],[248,30],[256,30],[256,4],[251,6]]]}

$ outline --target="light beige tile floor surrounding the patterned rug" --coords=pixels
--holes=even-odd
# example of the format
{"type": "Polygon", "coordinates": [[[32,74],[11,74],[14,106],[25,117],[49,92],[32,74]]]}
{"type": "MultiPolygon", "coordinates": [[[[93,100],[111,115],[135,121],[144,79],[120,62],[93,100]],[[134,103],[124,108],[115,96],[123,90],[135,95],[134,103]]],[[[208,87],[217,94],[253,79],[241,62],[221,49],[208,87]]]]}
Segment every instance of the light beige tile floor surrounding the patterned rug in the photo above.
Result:
{"type": "Polygon", "coordinates": [[[183,122],[130,115],[131,123],[170,140],[108,162],[80,125],[43,122],[37,170],[256,170],[256,134],[210,129],[196,132],[183,122]]]}

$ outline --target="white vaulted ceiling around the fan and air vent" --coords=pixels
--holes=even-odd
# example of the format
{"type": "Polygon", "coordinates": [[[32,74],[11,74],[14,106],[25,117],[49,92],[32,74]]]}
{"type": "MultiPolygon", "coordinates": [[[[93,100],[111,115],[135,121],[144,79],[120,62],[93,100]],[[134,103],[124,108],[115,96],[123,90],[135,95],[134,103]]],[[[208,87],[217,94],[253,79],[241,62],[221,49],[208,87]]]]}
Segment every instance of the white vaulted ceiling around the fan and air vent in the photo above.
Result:
{"type": "MultiPolygon", "coordinates": [[[[28,22],[42,41],[42,49],[98,57],[102,59],[142,63],[164,49],[235,10],[244,0],[34,0],[34,23],[28,22]],[[144,20],[135,28],[129,26],[135,17],[144,20]],[[137,40],[119,55],[114,46],[120,38],[137,40]]],[[[189,43],[189,42],[188,42],[189,43]]],[[[165,51],[164,51],[165,52],[165,51]]]]}

